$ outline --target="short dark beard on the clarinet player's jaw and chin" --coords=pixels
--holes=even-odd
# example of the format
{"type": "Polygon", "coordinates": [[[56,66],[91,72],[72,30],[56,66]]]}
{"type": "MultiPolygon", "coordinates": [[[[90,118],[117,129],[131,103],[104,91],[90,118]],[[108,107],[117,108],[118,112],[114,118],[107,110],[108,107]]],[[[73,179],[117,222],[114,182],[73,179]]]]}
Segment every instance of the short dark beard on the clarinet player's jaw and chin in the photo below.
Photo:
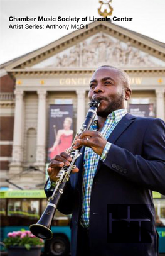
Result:
{"type": "MultiPolygon", "coordinates": [[[[109,101],[109,99],[107,99],[109,101]]],[[[104,111],[97,110],[97,116],[107,117],[110,113],[117,109],[123,108],[123,102],[124,102],[124,95],[118,95],[117,97],[111,97],[109,104],[107,108],[104,109],[104,111]]]]}

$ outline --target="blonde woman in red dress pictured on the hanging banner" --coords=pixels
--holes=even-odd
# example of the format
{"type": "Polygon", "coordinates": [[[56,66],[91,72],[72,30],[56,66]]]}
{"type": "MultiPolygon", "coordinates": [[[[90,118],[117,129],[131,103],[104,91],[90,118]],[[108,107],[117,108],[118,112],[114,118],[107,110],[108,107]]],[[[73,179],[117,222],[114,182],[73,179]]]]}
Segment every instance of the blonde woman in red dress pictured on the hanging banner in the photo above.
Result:
{"type": "Polygon", "coordinates": [[[72,118],[65,118],[63,122],[63,129],[58,130],[56,140],[53,147],[49,148],[49,158],[53,159],[55,155],[65,152],[72,144],[73,130],[70,129],[72,125],[72,118]]]}

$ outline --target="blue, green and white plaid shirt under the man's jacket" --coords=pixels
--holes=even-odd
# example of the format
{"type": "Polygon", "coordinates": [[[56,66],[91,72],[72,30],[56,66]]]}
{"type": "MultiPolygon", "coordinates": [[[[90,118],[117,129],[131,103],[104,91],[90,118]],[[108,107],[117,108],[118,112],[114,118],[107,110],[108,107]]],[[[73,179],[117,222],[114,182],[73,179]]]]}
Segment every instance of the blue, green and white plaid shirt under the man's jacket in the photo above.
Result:
{"type": "MultiPolygon", "coordinates": [[[[119,121],[127,114],[126,109],[115,110],[109,116],[107,116],[107,120],[104,123],[104,126],[100,133],[107,140],[109,138],[110,133],[114,130],[115,126],[119,123],[119,121]]],[[[97,120],[93,121],[90,126],[91,131],[98,130],[97,120]]],[[[92,191],[93,178],[95,176],[95,172],[97,170],[98,161],[104,161],[107,157],[107,153],[109,152],[111,143],[107,142],[102,152],[101,157],[97,155],[97,153],[93,152],[92,148],[85,148],[84,158],[83,158],[83,182],[82,182],[82,213],[80,217],[80,224],[87,228],[89,226],[89,215],[90,215],[90,194],[92,191]]],[[[47,183],[46,190],[53,190],[55,184],[50,180],[47,183]]]]}

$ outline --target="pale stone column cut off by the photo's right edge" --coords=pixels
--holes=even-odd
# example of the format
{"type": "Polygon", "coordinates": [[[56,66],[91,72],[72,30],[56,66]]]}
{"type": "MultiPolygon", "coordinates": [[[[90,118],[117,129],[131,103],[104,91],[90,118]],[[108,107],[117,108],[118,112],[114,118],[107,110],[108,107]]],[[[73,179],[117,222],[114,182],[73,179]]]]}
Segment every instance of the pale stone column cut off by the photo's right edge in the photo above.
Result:
{"type": "Polygon", "coordinates": [[[156,117],[164,120],[164,89],[156,89],[156,117]]]}

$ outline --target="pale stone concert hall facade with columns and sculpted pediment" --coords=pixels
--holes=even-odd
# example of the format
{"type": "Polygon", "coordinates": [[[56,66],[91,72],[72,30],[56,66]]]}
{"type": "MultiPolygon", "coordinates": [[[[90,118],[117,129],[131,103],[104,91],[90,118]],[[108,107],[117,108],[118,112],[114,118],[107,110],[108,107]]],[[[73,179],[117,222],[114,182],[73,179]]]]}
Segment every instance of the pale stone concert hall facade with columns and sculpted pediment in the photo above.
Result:
{"type": "Polygon", "coordinates": [[[72,101],[78,130],[88,109],[90,77],[100,65],[124,69],[130,103],[152,104],[156,117],[165,120],[164,43],[109,22],[91,23],[88,30],[1,65],[1,186],[9,186],[5,179],[24,188],[45,182],[49,106],[72,101]]]}

